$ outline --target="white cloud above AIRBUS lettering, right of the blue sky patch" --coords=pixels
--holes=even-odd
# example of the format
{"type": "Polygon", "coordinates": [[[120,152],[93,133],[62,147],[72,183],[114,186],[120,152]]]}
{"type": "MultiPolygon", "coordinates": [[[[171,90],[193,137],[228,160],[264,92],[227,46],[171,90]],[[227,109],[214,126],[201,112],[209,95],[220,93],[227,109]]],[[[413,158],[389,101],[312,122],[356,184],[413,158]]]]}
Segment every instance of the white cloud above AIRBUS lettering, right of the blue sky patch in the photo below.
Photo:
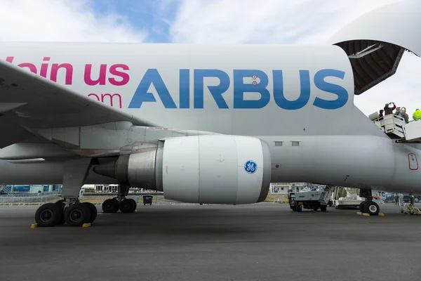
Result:
{"type": "Polygon", "coordinates": [[[396,1],[182,0],[171,38],[191,43],[320,42],[356,16],[396,1]]]}

